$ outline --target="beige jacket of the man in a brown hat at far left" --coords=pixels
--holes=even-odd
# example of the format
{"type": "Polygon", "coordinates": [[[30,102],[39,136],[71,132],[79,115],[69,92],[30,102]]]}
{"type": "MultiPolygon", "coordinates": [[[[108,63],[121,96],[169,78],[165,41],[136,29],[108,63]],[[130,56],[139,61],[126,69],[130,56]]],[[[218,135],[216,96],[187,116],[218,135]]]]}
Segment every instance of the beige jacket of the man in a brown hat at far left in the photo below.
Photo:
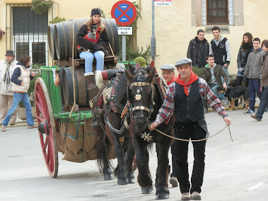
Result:
{"type": "MultiPolygon", "coordinates": [[[[13,71],[16,69],[16,64],[18,62],[14,60],[10,67],[9,67],[9,76],[11,79],[11,76],[13,74],[13,71]]],[[[6,75],[6,60],[2,60],[0,62],[0,94],[6,95],[6,96],[13,96],[13,91],[12,91],[12,83],[10,82],[9,84],[6,84],[4,81],[4,77],[6,75]]]]}

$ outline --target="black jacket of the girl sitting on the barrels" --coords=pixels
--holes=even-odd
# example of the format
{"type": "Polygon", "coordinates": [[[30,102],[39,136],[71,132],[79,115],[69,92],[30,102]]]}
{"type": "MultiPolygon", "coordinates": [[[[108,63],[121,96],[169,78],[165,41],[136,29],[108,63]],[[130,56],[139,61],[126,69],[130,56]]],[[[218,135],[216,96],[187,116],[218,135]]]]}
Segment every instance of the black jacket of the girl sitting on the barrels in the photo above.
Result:
{"type": "MultiPolygon", "coordinates": [[[[107,56],[106,48],[109,47],[109,38],[106,30],[103,30],[103,32],[100,33],[100,38],[98,39],[96,44],[94,44],[94,42],[87,40],[86,38],[83,38],[87,33],[88,33],[88,26],[84,24],[81,26],[78,34],[76,35],[77,45],[85,49],[91,50],[92,53],[101,50],[105,53],[105,56],[107,56]]],[[[79,54],[83,52],[83,48],[79,50],[79,54]]]]}

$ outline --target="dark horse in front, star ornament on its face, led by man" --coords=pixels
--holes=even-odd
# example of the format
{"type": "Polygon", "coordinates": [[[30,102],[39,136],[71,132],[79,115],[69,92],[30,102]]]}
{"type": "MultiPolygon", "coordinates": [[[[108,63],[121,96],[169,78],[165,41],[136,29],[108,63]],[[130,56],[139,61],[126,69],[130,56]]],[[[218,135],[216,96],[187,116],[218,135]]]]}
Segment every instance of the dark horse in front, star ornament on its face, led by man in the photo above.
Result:
{"type": "MultiPolygon", "coordinates": [[[[148,122],[156,119],[159,108],[163,103],[160,91],[156,88],[155,68],[144,67],[134,71],[134,75],[126,71],[129,81],[127,98],[129,101],[129,133],[136,154],[136,165],[139,169],[138,183],[141,193],[152,193],[153,181],[148,168],[148,145],[156,143],[158,167],[156,170],[156,199],[168,199],[168,150],[171,138],[148,130],[148,122]]],[[[158,126],[158,130],[173,136],[174,118],[171,117],[166,125],[158,126]]]]}

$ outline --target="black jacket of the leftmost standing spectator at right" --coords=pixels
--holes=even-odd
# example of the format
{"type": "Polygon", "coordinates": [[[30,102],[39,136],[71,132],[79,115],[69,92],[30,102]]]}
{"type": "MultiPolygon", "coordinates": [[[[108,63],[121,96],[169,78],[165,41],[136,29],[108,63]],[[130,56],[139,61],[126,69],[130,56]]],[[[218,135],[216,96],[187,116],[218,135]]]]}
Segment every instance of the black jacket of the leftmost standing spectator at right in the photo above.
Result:
{"type": "Polygon", "coordinates": [[[197,52],[197,40],[198,38],[195,37],[193,40],[190,41],[188,50],[187,50],[187,58],[192,59],[192,65],[197,66],[202,64],[203,66],[206,64],[206,55],[209,54],[209,42],[207,42],[206,38],[202,42],[204,42],[204,50],[200,50],[197,52]],[[204,57],[202,58],[202,62],[197,61],[197,56],[200,58],[200,52],[204,51],[204,57]]]}

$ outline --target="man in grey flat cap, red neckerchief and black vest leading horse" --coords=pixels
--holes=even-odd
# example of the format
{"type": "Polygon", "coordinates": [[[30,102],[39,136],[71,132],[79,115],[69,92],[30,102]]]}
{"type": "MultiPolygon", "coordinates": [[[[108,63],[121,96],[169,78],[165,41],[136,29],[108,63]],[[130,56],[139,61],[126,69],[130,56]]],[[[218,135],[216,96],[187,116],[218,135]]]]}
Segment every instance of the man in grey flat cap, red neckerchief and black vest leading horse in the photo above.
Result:
{"type": "MultiPolygon", "coordinates": [[[[226,125],[231,125],[219,98],[212,93],[204,79],[192,71],[192,60],[179,59],[175,67],[179,72],[177,79],[170,84],[165,101],[158,111],[156,120],[149,126],[150,130],[164,122],[170,115],[175,115],[175,137],[180,139],[204,139],[209,135],[204,117],[203,100],[223,117],[226,125]]],[[[204,178],[204,158],[206,140],[192,142],[194,147],[194,166],[191,183],[188,171],[189,142],[175,140],[177,180],[180,183],[181,200],[201,200],[201,187],[204,178]]]]}

